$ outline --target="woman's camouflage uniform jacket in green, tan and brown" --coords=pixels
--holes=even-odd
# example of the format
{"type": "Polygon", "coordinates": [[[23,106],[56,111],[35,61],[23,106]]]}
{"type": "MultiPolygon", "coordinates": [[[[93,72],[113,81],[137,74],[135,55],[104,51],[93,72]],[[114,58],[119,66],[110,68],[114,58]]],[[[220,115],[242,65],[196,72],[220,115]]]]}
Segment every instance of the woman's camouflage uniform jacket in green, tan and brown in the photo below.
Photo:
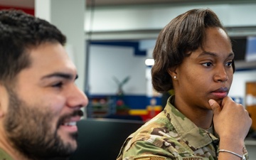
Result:
{"type": "MultiPolygon", "coordinates": [[[[117,160],[213,160],[218,159],[218,135],[201,129],[171,105],[131,134],[124,142],[117,160]]],[[[244,148],[247,159],[247,151],[244,148]]]]}

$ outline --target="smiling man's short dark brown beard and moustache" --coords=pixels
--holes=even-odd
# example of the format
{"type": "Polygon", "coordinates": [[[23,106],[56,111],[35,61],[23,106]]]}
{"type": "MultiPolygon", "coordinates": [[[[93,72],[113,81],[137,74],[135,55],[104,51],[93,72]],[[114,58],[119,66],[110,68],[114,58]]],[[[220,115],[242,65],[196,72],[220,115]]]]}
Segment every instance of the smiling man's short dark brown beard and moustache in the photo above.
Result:
{"type": "MultiPolygon", "coordinates": [[[[60,117],[56,129],[51,127],[54,114],[46,106],[29,106],[9,89],[9,109],[4,120],[7,137],[12,145],[30,159],[49,159],[66,157],[75,151],[71,144],[65,144],[57,134],[63,119],[60,117]]],[[[78,114],[78,113],[73,113],[78,114]]],[[[75,139],[77,133],[70,134],[75,139]]]]}

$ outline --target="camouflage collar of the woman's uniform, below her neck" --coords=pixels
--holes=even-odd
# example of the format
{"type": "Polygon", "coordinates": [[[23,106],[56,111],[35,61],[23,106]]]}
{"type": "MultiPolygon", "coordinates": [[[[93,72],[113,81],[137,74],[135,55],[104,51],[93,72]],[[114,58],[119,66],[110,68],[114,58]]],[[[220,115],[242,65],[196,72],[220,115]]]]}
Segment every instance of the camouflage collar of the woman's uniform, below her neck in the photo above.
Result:
{"type": "Polygon", "coordinates": [[[166,107],[164,108],[164,114],[170,120],[181,139],[183,139],[193,151],[207,146],[213,141],[218,141],[215,135],[207,132],[205,129],[197,127],[196,124],[191,122],[190,119],[185,117],[172,104],[174,104],[174,95],[169,97],[166,107]]]}

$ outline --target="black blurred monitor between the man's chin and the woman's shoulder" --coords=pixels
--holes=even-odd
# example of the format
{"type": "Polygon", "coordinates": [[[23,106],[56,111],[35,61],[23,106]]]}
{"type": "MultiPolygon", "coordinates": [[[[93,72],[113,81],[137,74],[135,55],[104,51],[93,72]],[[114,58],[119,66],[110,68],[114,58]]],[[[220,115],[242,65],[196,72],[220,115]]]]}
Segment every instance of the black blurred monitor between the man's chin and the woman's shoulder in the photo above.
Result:
{"type": "Polygon", "coordinates": [[[125,139],[144,122],[123,119],[82,119],[78,122],[78,149],[70,160],[114,160],[125,139]]]}

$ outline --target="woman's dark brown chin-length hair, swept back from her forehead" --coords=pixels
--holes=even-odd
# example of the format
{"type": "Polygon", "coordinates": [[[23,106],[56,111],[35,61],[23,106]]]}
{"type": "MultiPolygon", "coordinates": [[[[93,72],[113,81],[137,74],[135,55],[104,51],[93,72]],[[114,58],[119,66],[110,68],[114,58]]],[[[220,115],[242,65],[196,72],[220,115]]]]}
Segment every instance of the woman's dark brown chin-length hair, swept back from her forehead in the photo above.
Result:
{"type": "MultiPolygon", "coordinates": [[[[156,91],[174,89],[168,70],[199,47],[206,38],[206,28],[218,27],[225,31],[218,16],[210,9],[192,9],[168,23],[159,33],[153,52],[152,84],[156,91]]],[[[233,63],[233,71],[235,65],[233,63]]]]}

